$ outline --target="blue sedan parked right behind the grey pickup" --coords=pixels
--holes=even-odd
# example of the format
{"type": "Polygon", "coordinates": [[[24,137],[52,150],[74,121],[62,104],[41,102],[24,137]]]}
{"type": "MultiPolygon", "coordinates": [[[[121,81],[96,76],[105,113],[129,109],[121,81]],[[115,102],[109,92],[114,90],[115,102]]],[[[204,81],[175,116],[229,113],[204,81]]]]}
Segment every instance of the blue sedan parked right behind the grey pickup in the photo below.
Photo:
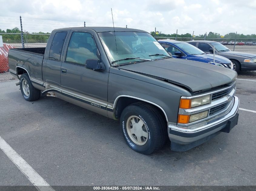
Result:
{"type": "MultiPolygon", "coordinates": [[[[174,58],[214,64],[213,54],[206,54],[189,43],[172,40],[158,40],[158,42],[174,58]]],[[[233,65],[231,63],[232,62],[229,59],[215,55],[215,65],[233,69],[233,65]]]]}

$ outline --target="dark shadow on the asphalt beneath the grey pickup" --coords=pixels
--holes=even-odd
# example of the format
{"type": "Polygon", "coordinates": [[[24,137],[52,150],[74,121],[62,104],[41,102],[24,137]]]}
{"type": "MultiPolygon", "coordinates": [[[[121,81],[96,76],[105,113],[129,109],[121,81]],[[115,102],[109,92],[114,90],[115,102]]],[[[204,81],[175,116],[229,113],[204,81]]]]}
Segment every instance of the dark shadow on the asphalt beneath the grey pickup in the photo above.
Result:
{"type": "MultiPolygon", "coordinates": [[[[157,164],[159,168],[169,169],[172,172],[180,172],[194,165],[215,164],[227,145],[227,136],[221,136],[220,134],[189,151],[171,151],[170,141],[168,141],[159,151],[151,155],[144,155],[133,151],[126,145],[121,134],[119,121],[109,119],[55,97],[41,96],[38,101],[28,102],[23,99],[19,91],[7,93],[7,96],[14,97],[19,104],[30,108],[30,112],[32,113],[30,115],[39,115],[40,113],[41,119],[37,123],[43,123],[47,119],[52,119],[51,122],[55,125],[45,124],[45,126],[51,126],[56,132],[62,130],[70,133],[70,135],[65,134],[65,136],[70,136],[71,141],[59,141],[59,143],[56,142],[56,145],[52,145],[52,150],[57,154],[61,152],[59,151],[58,144],[62,145],[62,147],[69,145],[67,148],[83,149],[83,145],[81,147],[78,147],[76,144],[72,145],[72,140],[76,139],[76,142],[81,142],[81,144],[90,142],[92,145],[95,145],[95,148],[92,148],[97,151],[94,157],[100,155],[100,152],[111,153],[113,156],[118,155],[119,160],[129,159],[131,161],[138,161],[139,158],[138,165],[147,162],[148,165],[154,166],[157,164]]],[[[33,121],[28,123],[32,124],[33,121]]],[[[45,134],[45,136],[49,135],[45,134]]],[[[58,138],[56,137],[57,141],[61,140],[60,137],[63,135],[56,134],[51,136],[58,136],[58,138]]],[[[114,161],[115,158],[113,158],[112,162],[114,161]]]]}

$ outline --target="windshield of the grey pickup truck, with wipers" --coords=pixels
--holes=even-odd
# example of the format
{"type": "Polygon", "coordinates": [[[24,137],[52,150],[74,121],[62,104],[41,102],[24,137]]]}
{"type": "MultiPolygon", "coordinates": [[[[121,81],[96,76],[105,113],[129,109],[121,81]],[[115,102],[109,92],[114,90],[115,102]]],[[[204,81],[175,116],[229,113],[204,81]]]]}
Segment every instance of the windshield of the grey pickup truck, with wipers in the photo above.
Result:
{"type": "Polygon", "coordinates": [[[115,32],[114,35],[114,32],[101,32],[98,35],[108,55],[108,59],[112,62],[112,66],[170,57],[165,49],[149,33],[115,32]],[[128,60],[127,58],[134,59],[128,60]],[[136,58],[140,58],[140,60],[136,58]],[[119,61],[115,62],[117,60],[119,61]]]}

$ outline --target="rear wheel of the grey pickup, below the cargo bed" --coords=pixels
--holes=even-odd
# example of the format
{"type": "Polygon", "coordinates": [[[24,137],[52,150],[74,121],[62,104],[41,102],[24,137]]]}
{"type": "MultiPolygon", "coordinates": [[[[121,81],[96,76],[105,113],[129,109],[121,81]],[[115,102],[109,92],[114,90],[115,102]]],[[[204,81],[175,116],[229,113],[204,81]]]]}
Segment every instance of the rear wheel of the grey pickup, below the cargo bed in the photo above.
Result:
{"type": "Polygon", "coordinates": [[[20,77],[20,91],[27,101],[38,100],[41,96],[41,91],[34,88],[27,73],[20,77]]]}

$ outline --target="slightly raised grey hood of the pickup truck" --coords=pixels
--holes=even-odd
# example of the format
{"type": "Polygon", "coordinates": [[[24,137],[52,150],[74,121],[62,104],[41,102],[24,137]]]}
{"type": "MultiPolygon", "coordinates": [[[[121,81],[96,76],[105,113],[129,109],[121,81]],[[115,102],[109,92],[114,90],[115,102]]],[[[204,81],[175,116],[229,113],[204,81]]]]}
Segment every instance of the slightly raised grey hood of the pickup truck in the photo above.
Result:
{"type": "Polygon", "coordinates": [[[123,65],[120,69],[167,80],[191,92],[207,90],[235,80],[237,73],[228,68],[184,59],[161,59],[123,65]]]}

